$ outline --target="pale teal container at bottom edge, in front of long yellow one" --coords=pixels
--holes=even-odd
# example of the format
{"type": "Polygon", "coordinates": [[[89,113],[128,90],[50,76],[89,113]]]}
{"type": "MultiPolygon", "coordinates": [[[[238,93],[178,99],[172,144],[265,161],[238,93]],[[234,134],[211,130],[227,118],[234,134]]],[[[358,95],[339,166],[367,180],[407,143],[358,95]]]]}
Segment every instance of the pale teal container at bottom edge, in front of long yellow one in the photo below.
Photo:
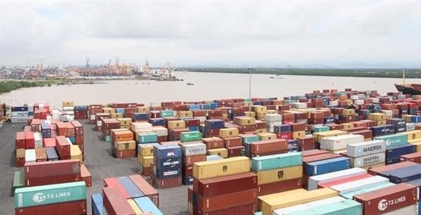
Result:
{"type": "Polygon", "coordinates": [[[288,215],[362,215],[363,205],[354,200],[343,200],[319,207],[288,213],[288,215]]]}

